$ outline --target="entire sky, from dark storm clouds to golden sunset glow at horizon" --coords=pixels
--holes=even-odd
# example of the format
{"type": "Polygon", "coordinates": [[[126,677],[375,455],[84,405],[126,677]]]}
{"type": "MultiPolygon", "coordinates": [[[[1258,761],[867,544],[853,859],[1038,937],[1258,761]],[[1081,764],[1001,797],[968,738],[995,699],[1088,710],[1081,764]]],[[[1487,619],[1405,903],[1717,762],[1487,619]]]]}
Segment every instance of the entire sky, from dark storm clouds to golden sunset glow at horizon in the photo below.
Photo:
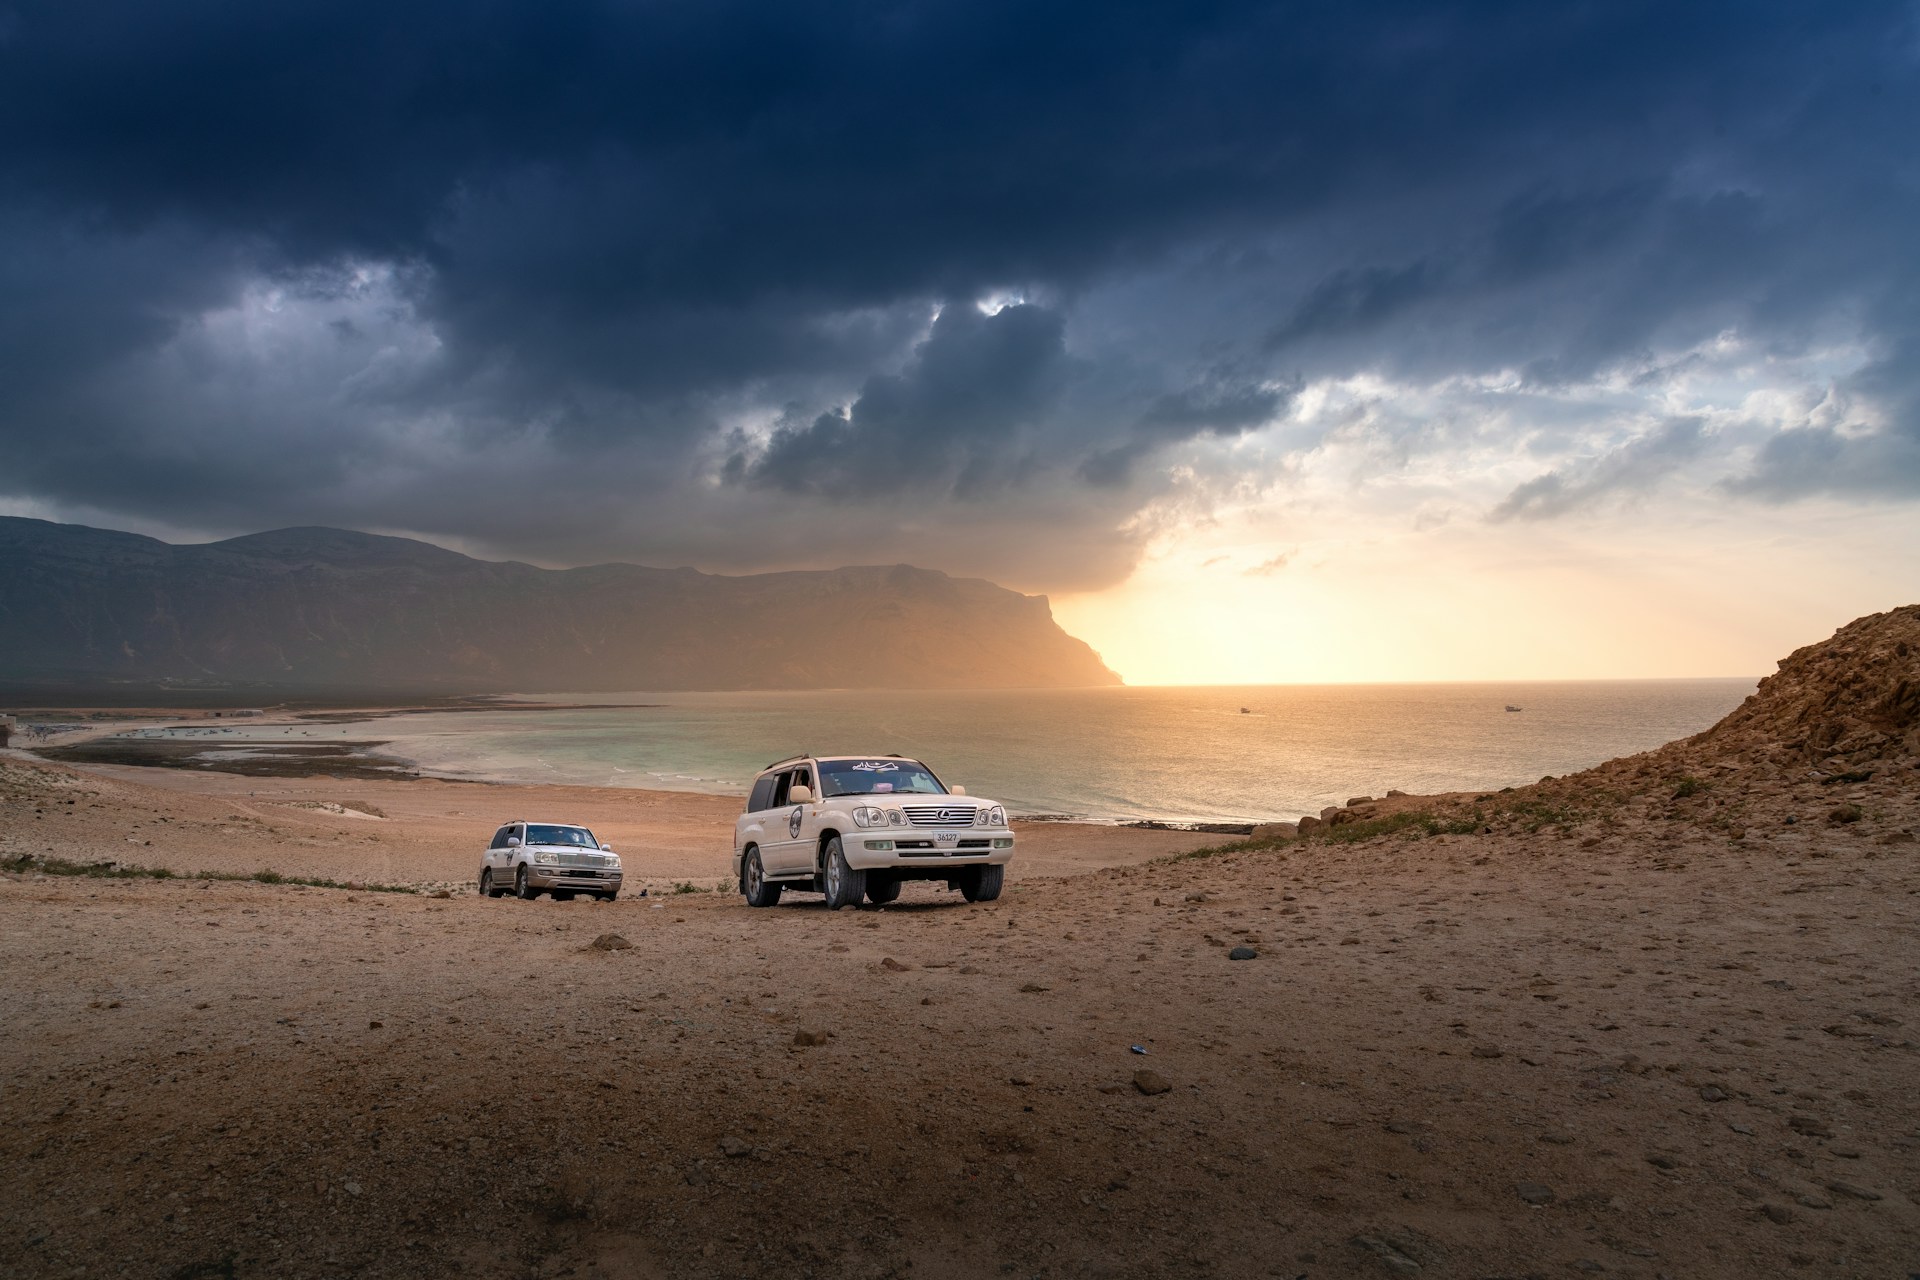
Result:
{"type": "Polygon", "coordinates": [[[0,0],[0,514],[912,562],[1131,683],[1920,599],[1920,8],[0,0]]]}

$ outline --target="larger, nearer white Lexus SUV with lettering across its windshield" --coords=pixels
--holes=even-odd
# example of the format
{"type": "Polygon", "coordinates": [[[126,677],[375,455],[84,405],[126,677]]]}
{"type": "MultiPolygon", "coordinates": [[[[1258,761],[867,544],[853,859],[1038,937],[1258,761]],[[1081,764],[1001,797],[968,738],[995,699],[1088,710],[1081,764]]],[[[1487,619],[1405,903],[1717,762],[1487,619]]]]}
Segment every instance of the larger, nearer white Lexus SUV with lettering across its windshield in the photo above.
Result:
{"type": "Polygon", "coordinates": [[[793,756],[766,766],[733,823],[733,875],[749,906],[785,889],[829,908],[893,902],[906,881],[947,881],[993,902],[1014,858],[1006,808],[948,789],[904,756],[793,756]]]}

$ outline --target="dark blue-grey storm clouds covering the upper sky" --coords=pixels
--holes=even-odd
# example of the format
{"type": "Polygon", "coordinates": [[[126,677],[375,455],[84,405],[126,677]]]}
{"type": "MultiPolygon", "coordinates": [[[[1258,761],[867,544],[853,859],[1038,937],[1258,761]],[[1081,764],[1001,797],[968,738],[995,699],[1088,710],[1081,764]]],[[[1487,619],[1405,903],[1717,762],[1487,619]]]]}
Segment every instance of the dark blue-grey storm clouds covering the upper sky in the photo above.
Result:
{"type": "MultiPolygon", "coordinates": [[[[1066,585],[1123,572],[1154,459],[1313,378],[1578,388],[1834,324],[1853,416],[1732,491],[1920,495],[1905,4],[4,17],[0,497],[735,566],[941,562],[950,510],[964,568],[1044,535],[1066,585]],[[854,459],[920,509],[852,530],[854,459]],[[503,530],[503,468],[570,503],[503,530]]],[[[1609,482],[1534,484],[1501,510],[1609,482]]]]}

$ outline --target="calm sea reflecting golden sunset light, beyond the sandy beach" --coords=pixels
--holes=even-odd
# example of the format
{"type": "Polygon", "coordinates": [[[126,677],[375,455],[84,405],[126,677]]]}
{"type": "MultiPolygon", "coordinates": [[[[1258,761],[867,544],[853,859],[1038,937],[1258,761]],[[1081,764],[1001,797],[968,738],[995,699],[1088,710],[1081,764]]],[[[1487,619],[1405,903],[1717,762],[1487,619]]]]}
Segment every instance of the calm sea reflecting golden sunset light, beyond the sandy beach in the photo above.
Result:
{"type": "Polygon", "coordinates": [[[351,733],[474,781],[745,794],[785,756],[899,752],[1023,818],[1260,823],[1388,789],[1572,773],[1697,733],[1755,683],[540,695],[528,700],[599,706],[407,714],[351,733]]]}

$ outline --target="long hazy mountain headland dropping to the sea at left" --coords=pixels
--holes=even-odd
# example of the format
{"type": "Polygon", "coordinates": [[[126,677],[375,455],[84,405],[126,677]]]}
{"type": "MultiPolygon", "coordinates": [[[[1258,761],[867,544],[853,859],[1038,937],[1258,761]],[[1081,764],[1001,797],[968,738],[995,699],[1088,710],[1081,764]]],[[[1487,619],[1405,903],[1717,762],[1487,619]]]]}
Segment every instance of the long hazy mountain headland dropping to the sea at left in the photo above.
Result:
{"type": "Polygon", "coordinates": [[[543,570],[348,530],[0,518],[0,683],[259,691],[1114,685],[1044,597],[895,566],[543,570]]]}

